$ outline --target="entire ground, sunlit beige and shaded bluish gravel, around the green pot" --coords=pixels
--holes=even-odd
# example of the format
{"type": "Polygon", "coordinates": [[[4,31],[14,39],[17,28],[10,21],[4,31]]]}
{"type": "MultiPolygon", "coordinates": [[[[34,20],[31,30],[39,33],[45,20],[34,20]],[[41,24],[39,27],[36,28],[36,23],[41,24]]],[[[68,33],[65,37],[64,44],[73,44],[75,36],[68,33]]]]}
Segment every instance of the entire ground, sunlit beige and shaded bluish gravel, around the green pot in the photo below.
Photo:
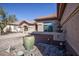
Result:
{"type": "Polygon", "coordinates": [[[8,35],[0,36],[0,55],[4,56],[14,56],[18,51],[23,51],[25,56],[63,56],[63,50],[59,50],[54,45],[38,43],[34,46],[34,50],[30,53],[23,47],[23,36],[22,33],[12,33],[8,35]],[[6,52],[9,48],[12,48],[11,53],[6,52]],[[40,49],[38,49],[40,47],[40,49]]]}

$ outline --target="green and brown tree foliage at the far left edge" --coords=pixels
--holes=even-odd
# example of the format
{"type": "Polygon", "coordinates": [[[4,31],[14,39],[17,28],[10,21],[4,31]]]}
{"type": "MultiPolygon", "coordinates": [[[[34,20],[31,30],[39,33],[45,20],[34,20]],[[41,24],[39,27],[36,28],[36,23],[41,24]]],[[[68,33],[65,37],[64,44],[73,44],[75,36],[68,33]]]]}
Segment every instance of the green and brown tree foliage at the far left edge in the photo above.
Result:
{"type": "Polygon", "coordinates": [[[6,16],[6,13],[2,7],[0,7],[0,29],[1,29],[1,34],[3,34],[3,29],[7,24],[13,23],[17,21],[15,15],[9,15],[8,17],[6,16]]]}

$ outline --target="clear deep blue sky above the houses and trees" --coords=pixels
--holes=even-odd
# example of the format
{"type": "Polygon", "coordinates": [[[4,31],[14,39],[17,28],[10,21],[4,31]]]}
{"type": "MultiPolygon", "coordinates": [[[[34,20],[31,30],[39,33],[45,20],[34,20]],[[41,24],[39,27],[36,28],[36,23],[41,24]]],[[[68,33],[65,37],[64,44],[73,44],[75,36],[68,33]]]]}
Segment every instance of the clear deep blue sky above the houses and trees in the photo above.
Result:
{"type": "Polygon", "coordinates": [[[57,12],[55,3],[0,3],[6,14],[16,15],[18,20],[34,20],[57,12]]]}

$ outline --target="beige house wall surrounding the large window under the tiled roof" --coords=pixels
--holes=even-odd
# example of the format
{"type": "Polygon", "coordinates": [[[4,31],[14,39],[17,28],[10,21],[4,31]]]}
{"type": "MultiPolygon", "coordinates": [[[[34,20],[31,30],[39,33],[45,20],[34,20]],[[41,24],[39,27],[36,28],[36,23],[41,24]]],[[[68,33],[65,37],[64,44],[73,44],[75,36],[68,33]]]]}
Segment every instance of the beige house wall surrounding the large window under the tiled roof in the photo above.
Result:
{"type": "Polygon", "coordinates": [[[58,26],[58,21],[57,20],[48,20],[48,21],[40,21],[40,22],[37,22],[37,26],[38,26],[38,31],[39,32],[44,32],[44,23],[45,22],[50,22],[53,24],[53,31],[56,31],[57,30],[57,26],[58,26]]]}

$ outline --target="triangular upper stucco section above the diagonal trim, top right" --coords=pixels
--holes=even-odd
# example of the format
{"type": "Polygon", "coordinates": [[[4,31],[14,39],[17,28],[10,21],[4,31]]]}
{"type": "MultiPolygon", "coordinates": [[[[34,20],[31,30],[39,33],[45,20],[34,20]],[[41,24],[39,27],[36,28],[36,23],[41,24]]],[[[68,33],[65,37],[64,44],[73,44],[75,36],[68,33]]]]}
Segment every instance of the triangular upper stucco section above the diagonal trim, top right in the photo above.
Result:
{"type": "Polygon", "coordinates": [[[75,8],[78,6],[79,4],[77,3],[70,3],[67,4],[64,15],[62,16],[62,21],[61,24],[68,18],[68,16],[75,10],[75,8]]]}

